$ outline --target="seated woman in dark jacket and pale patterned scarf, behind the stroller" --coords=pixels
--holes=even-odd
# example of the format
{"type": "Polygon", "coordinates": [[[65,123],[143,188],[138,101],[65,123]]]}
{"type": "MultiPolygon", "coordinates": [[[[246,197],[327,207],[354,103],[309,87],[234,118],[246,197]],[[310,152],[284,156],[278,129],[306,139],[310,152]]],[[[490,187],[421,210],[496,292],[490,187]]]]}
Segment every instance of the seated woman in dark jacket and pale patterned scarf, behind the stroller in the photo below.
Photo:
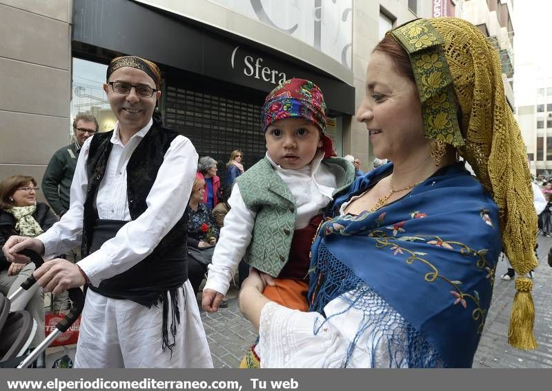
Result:
{"type": "MultiPolygon", "coordinates": [[[[12,235],[36,237],[57,221],[46,203],[37,202],[37,181],[32,177],[14,175],[0,182],[0,248],[12,235]]],[[[9,297],[30,274],[34,263],[8,263],[0,252],[0,292],[9,297]]],[[[28,310],[37,321],[37,334],[30,345],[36,348],[44,340],[44,292],[35,284],[15,299],[12,311],[28,310]]],[[[42,367],[43,368],[43,367],[42,367]]]]}

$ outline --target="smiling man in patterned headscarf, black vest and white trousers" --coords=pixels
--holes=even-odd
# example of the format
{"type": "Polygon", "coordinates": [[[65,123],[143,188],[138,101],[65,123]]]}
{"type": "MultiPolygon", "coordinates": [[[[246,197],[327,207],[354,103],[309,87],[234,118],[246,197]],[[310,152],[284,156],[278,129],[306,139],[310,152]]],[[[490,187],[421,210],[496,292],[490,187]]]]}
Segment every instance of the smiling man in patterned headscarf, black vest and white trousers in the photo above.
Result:
{"type": "Polygon", "coordinates": [[[24,248],[50,257],[81,242],[78,265],[54,259],[34,272],[54,294],[88,285],[77,368],[213,367],[186,264],[182,205],[197,153],[155,115],[160,87],[155,63],[111,61],[103,90],[118,121],[83,144],[68,212],[37,238],[3,247],[9,261],[26,262],[24,248]]]}

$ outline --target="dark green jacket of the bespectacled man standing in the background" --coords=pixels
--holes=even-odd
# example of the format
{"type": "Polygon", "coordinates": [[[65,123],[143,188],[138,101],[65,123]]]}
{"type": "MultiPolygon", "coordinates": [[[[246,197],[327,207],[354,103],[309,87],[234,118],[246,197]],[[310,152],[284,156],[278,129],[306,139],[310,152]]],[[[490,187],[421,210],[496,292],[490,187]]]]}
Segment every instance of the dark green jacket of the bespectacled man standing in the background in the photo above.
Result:
{"type": "Polygon", "coordinates": [[[44,197],[58,216],[69,210],[71,182],[75,175],[79,152],[75,143],[57,150],[42,178],[44,197]]]}

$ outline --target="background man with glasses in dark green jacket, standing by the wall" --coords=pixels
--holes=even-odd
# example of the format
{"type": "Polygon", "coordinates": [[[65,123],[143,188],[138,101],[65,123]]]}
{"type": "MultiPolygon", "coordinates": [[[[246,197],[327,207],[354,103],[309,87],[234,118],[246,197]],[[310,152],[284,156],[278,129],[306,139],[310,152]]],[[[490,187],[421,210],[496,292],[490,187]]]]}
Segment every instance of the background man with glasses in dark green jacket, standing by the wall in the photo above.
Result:
{"type": "Polygon", "coordinates": [[[50,159],[44,177],[42,191],[50,208],[59,216],[69,210],[71,182],[77,167],[81,147],[98,131],[98,121],[93,115],[79,113],[73,121],[73,138],[75,142],[57,150],[50,159]]]}

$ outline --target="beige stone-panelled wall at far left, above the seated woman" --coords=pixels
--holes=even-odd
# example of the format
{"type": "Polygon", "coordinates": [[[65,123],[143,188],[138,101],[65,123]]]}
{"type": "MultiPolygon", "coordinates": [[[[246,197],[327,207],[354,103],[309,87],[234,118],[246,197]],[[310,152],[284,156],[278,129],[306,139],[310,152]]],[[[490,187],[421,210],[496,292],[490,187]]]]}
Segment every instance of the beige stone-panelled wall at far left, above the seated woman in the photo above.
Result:
{"type": "Polygon", "coordinates": [[[25,174],[40,183],[68,143],[70,5],[0,0],[0,179],[25,174]]]}

